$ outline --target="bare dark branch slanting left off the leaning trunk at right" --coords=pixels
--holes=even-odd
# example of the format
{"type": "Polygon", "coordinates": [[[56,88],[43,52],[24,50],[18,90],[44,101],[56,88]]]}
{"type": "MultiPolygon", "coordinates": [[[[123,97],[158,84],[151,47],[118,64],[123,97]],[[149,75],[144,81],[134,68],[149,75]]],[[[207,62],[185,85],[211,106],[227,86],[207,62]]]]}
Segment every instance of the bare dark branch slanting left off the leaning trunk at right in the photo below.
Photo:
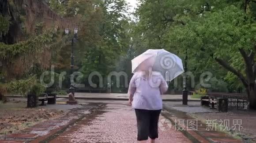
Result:
{"type": "Polygon", "coordinates": [[[237,77],[241,80],[241,82],[244,84],[244,86],[248,87],[248,83],[247,83],[245,77],[241,74],[241,72],[238,72],[237,70],[235,70],[228,63],[226,63],[226,61],[224,61],[222,59],[215,58],[215,61],[217,61],[220,65],[222,65],[222,67],[224,67],[227,70],[229,70],[230,72],[232,72],[234,75],[237,75],[237,77]]]}

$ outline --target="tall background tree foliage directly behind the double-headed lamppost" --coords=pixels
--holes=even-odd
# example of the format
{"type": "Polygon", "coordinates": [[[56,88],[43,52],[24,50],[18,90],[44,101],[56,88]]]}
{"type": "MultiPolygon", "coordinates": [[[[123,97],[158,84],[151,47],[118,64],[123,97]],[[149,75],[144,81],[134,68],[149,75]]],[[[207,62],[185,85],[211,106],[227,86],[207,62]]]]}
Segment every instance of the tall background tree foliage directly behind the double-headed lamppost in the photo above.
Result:
{"type": "MultiPolygon", "coordinates": [[[[82,72],[84,81],[91,72],[100,72],[103,78],[119,66],[130,46],[130,19],[124,13],[125,0],[49,0],[49,5],[64,17],[79,17],[78,42],[75,43],[75,70],[82,72]]],[[[70,49],[61,50],[60,70],[70,68],[70,49]]],[[[95,81],[98,79],[95,78],[95,81]]],[[[83,81],[83,82],[84,82],[83,81]]]]}

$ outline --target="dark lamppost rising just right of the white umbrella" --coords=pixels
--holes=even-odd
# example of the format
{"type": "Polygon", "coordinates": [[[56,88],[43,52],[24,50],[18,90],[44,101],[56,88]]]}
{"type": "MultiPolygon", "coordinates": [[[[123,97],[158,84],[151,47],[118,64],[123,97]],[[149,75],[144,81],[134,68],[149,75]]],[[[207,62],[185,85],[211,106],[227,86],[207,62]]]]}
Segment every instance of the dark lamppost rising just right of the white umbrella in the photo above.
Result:
{"type": "Polygon", "coordinates": [[[182,104],[188,105],[188,90],[187,90],[187,60],[188,60],[188,50],[186,49],[184,59],[184,76],[183,76],[183,91],[182,91],[182,104]]]}

